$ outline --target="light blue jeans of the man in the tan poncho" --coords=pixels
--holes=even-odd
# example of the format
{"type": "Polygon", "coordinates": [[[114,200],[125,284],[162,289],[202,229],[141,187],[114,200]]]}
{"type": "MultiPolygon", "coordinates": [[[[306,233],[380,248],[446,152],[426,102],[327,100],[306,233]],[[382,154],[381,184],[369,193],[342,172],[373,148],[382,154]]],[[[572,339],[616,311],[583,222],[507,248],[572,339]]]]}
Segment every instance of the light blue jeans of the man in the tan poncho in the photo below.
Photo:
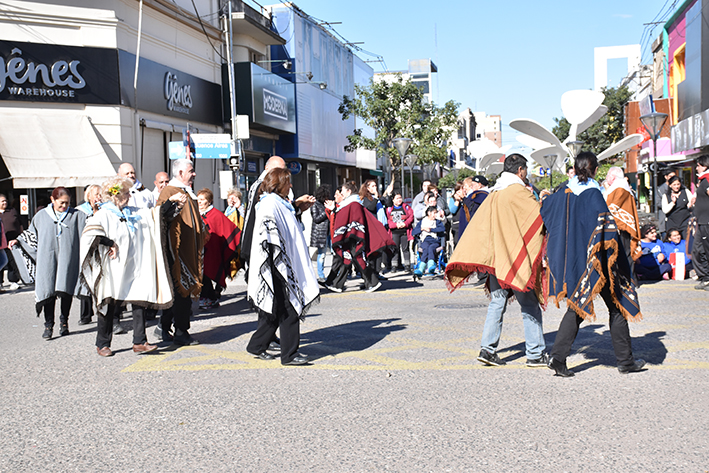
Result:
{"type": "MultiPolygon", "coordinates": [[[[502,319],[507,310],[507,289],[502,289],[497,278],[493,275],[490,281],[490,305],[487,308],[485,328],[480,346],[490,353],[497,351],[502,334],[502,319]]],[[[542,356],[546,349],[544,330],[542,329],[542,309],[539,307],[534,291],[514,291],[517,302],[522,309],[522,322],[524,323],[524,340],[527,359],[536,360],[542,356]]]]}

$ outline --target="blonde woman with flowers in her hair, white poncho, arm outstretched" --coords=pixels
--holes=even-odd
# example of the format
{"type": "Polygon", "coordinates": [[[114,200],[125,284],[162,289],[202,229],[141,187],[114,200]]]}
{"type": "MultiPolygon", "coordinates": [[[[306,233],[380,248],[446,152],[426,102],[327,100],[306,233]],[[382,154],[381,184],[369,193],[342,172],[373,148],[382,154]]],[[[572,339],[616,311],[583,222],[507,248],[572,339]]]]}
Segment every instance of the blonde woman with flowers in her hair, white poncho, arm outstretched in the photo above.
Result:
{"type": "Polygon", "coordinates": [[[176,195],[153,209],[127,207],[132,185],[122,177],[106,181],[104,203],[81,236],[81,277],[96,305],[100,356],[113,355],[113,317],[128,303],[133,306],[133,352],[154,351],[157,347],[145,334],[144,309],[167,309],[173,300],[161,226],[177,215],[186,198],[176,195]]]}

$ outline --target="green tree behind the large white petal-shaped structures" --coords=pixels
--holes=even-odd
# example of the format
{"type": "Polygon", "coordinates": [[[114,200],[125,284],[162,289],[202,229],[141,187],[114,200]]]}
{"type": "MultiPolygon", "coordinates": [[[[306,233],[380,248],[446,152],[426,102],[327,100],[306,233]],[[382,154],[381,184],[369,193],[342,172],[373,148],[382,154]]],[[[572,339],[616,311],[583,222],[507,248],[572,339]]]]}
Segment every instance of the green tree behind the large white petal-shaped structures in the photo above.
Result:
{"type": "MultiPolygon", "coordinates": [[[[625,137],[623,129],[625,115],[623,111],[625,104],[628,103],[633,95],[626,86],[603,88],[601,91],[606,96],[603,100],[603,105],[608,107],[608,111],[596,123],[576,137],[577,140],[584,142],[584,151],[592,151],[596,155],[625,137]]],[[[552,133],[561,141],[564,141],[569,136],[571,124],[566,118],[554,118],[554,122],[556,126],[552,129],[552,133]]]]}

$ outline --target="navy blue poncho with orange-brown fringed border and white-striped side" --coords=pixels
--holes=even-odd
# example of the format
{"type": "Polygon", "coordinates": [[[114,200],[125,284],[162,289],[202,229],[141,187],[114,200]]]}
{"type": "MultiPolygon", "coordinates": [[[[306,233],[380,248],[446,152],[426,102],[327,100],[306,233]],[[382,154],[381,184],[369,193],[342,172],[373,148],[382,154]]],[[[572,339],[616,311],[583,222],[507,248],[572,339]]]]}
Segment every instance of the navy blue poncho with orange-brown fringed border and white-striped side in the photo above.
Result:
{"type": "Polygon", "coordinates": [[[618,227],[600,192],[561,187],[541,209],[548,231],[546,295],[584,320],[595,320],[593,299],[606,284],[628,320],[642,318],[618,227]]]}

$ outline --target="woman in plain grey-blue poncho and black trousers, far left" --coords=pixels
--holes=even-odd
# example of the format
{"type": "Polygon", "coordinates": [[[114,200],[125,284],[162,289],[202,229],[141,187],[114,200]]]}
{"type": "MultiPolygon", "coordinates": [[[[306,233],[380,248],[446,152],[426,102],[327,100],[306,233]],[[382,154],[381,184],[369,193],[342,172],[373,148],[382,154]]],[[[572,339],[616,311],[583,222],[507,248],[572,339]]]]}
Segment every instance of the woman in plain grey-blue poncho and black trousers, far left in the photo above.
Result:
{"type": "Polygon", "coordinates": [[[30,276],[34,278],[37,316],[44,311],[42,338],[50,340],[54,330],[54,307],[59,298],[59,335],[69,335],[71,298],[79,290],[79,237],[86,214],[69,207],[69,192],[64,187],[52,191],[52,203],[37,212],[19,242],[30,276]]]}

